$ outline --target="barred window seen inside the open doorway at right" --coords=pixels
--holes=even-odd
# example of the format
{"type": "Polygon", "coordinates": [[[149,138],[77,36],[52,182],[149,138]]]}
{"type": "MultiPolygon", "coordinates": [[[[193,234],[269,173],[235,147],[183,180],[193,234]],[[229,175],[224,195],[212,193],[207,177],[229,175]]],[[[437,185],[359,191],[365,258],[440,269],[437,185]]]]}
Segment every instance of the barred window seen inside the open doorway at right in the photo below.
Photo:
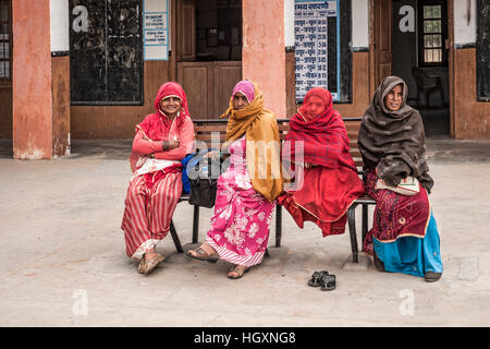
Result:
{"type": "Polygon", "coordinates": [[[419,67],[448,64],[445,1],[419,1],[418,59],[419,67]]]}

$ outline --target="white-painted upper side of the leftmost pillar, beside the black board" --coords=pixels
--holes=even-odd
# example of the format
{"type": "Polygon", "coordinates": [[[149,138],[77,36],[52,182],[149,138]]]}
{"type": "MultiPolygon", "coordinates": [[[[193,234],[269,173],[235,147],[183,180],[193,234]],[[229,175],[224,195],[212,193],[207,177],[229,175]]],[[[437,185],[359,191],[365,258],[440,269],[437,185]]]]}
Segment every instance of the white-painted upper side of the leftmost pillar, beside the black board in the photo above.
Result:
{"type": "Polygon", "coordinates": [[[69,0],[50,0],[51,12],[51,52],[69,51],[69,0]]]}

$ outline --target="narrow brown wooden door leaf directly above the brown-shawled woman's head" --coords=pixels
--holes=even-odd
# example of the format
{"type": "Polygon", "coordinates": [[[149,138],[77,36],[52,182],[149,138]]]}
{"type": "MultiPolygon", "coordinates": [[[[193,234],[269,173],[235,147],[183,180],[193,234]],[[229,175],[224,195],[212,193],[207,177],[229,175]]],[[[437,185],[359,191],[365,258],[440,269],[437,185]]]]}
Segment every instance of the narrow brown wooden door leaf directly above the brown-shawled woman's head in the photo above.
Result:
{"type": "MultiPolygon", "coordinates": [[[[392,32],[392,0],[372,0],[372,40],[371,52],[373,76],[371,75],[371,94],[381,81],[391,75],[391,32],[392,32]]],[[[371,65],[372,67],[372,65],[371,65]]]]}

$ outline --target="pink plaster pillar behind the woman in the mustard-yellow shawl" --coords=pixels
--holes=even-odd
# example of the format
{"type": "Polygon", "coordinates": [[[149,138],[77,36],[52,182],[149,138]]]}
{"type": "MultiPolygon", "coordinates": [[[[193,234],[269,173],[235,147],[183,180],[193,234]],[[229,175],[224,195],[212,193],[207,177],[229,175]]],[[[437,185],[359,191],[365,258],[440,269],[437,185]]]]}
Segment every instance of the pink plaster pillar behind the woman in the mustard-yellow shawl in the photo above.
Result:
{"type": "Polygon", "coordinates": [[[246,0],[243,7],[243,79],[264,92],[266,108],[286,117],[284,0],[246,0]]]}

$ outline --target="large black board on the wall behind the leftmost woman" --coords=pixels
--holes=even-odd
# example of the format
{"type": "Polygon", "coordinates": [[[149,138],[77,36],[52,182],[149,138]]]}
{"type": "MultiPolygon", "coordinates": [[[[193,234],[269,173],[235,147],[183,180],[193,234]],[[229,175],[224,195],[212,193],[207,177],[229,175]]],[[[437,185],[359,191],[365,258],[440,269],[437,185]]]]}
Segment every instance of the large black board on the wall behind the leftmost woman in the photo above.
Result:
{"type": "Polygon", "coordinates": [[[142,105],[142,0],[70,0],[72,105],[142,105]]]}

